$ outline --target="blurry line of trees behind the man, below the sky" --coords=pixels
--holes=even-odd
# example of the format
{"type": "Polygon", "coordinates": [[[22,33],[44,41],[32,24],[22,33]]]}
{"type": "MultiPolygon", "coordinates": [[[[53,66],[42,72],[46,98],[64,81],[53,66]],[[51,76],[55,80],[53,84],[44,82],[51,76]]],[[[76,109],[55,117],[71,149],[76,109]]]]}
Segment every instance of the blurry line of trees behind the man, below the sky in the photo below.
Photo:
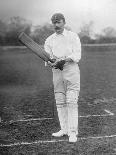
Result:
{"type": "MultiPolygon", "coordinates": [[[[93,36],[93,22],[90,21],[80,27],[78,33],[82,44],[116,43],[116,30],[106,27],[100,34],[93,36]]],[[[66,26],[66,29],[70,27],[66,26]]],[[[20,46],[18,39],[21,32],[31,36],[37,43],[44,44],[45,39],[54,33],[53,26],[49,23],[33,26],[32,22],[22,17],[12,17],[7,22],[0,20],[0,46],[20,46]]]]}

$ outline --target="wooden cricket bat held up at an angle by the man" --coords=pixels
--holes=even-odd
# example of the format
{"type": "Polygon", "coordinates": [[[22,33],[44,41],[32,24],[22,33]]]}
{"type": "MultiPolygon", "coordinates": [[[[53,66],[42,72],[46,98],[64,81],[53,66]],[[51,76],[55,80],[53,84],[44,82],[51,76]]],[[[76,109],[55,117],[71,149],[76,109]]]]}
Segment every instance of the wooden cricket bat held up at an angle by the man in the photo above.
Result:
{"type": "Polygon", "coordinates": [[[42,60],[46,62],[50,61],[51,63],[55,62],[55,59],[51,59],[50,55],[24,32],[19,35],[19,40],[42,60]]]}

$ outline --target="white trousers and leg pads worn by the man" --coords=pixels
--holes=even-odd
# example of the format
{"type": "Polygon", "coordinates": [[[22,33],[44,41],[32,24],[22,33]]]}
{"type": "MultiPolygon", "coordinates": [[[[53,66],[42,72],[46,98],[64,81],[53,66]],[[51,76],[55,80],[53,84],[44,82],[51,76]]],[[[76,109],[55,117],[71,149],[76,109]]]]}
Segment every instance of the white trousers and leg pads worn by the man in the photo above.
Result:
{"type": "Polygon", "coordinates": [[[56,107],[61,129],[68,135],[78,134],[78,96],[80,70],[77,64],[64,66],[63,71],[53,69],[53,84],[56,107]]]}

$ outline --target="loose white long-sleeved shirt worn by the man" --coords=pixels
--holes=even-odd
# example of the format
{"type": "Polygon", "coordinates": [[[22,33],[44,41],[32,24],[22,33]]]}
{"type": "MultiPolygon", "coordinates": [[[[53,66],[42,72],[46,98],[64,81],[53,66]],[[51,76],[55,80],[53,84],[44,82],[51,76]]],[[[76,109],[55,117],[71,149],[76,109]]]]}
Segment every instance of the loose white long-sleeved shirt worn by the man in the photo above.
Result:
{"type": "Polygon", "coordinates": [[[62,34],[52,34],[44,45],[51,58],[71,58],[74,62],[81,59],[81,43],[78,35],[64,29],[62,34]]]}

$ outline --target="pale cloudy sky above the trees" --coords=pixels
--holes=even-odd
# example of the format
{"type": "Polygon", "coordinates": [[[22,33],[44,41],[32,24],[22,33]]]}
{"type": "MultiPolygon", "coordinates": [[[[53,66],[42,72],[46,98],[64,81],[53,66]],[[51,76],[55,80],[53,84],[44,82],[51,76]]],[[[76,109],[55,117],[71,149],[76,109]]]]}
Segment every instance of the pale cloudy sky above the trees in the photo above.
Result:
{"type": "Polygon", "coordinates": [[[0,0],[0,19],[21,16],[33,25],[51,23],[54,13],[63,13],[66,25],[75,32],[93,21],[93,31],[99,33],[111,26],[116,29],[116,0],[0,0]]]}

